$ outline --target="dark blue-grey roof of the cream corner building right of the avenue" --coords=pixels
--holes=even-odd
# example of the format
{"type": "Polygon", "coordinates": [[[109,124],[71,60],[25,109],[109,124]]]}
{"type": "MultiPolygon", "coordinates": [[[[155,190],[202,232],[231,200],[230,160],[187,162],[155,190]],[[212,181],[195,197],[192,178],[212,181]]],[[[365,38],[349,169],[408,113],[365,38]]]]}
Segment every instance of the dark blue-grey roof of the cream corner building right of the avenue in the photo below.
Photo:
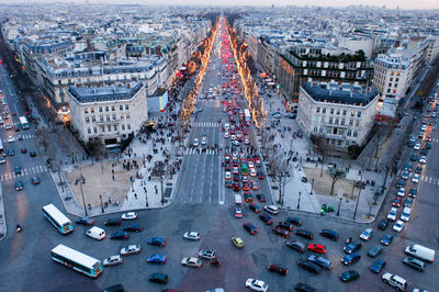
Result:
{"type": "Polygon", "coordinates": [[[341,103],[358,106],[367,106],[378,94],[376,89],[370,89],[364,92],[360,87],[351,85],[319,83],[312,85],[306,82],[302,88],[308,96],[318,102],[341,103]]]}

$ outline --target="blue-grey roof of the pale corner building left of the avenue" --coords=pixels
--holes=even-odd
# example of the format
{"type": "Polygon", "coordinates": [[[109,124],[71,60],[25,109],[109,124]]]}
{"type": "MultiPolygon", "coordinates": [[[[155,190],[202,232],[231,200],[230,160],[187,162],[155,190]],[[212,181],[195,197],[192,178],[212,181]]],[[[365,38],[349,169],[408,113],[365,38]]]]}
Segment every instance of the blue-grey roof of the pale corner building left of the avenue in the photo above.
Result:
{"type": "Polygon", "coordinates": [[[143,82],[131,82],[123,87],[70,87],[69,93],[79,103],[130,100],[143,88],[143,82]]]}

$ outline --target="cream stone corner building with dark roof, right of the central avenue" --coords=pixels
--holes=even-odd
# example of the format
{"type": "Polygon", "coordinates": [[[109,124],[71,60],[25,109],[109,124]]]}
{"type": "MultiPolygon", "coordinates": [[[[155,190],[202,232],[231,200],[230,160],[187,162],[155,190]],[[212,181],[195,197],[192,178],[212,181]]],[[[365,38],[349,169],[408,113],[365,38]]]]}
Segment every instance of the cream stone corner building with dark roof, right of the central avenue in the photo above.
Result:
{"type": "Polygon", "coordinates": [[[372,130],[378,100],[372,88],[307,82],[301,87],[297,123],[307,137],[323,136],[337,149],[361,147],[372,130]]]}

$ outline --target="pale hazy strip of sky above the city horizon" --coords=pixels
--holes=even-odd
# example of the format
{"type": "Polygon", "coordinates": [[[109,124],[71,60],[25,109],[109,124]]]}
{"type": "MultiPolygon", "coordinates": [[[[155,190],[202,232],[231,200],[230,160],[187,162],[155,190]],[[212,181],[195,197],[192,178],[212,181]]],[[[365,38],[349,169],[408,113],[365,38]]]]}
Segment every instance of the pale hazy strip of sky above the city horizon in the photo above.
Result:
{"type": "MultiPolygon", "coordinates": [[[[86,2],[86,0],[0,0],[0,3],[19,2],[86,2]]],[[[320,5],[320,7],[346,7],[351,4],[385,5],[386,8],[399,9],[439,9],[439,0],[89,0],[90,3],[139,3],[162,5],[320,5]]]]}

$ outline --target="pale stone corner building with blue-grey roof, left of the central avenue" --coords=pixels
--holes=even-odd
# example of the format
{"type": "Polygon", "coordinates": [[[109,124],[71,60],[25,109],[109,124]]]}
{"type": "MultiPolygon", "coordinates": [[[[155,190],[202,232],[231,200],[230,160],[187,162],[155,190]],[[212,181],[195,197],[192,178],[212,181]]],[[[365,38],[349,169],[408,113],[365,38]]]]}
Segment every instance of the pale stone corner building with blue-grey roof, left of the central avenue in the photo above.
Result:
{"type": "Polygon", "coordinates": [[[85,142],[102,142],[108,148],[134,136],[148,119],[143,82],[113,87],[70,87],[67,91],[72,126],[85,142]]]}

